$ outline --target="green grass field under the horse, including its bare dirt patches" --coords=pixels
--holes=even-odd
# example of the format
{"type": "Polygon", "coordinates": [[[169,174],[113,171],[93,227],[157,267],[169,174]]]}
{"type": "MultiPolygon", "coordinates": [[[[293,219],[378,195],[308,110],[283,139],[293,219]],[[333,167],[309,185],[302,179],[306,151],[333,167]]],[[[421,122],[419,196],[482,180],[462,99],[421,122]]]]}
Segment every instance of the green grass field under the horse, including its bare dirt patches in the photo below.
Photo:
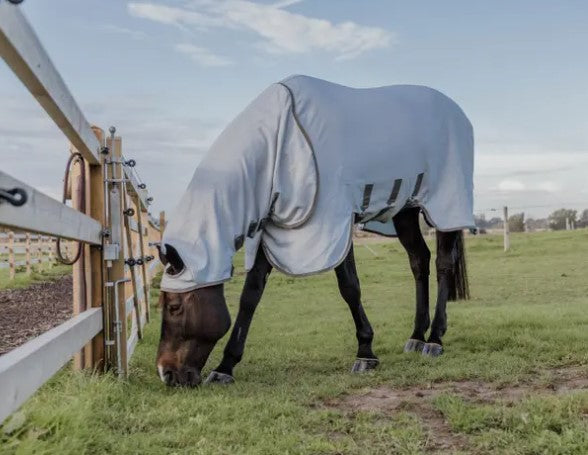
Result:
{"type": "MultiPolygon", "coordinates": [[[[333,273],[276,273],[236,384],[165,388],[156,320],[127,383],[62,372],[0,429],[0,452],[586,454],[588,230],[511,244],[504,254],[499,237],[467,240],[473,299],[449,305],[439,359],[402,353],[414,289],[400,245],[358,246],[377,371],[348,373],[354,326],[333,273]]],[[[233,315],[242,281],[228,285],[233,315]]]]}

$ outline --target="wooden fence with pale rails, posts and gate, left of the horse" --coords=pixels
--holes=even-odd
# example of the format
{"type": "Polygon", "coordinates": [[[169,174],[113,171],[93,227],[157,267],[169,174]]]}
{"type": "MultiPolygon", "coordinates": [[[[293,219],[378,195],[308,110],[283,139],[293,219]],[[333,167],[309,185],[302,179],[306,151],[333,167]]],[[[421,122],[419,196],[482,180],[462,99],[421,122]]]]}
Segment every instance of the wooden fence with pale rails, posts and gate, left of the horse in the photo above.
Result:
{"type": "Polygon", "coordinates": [[[2,422],[72,358],[76,369],[127,377],[149,321],[164,221],[150,217],[152,199],[121,137],[90,126],[20,7],[2,1],[0,56],[61,129],[72,156],[70,205],[0,171],[0,227],[82,245],[72,270],[74,316],[0,357],[2,422]]]}

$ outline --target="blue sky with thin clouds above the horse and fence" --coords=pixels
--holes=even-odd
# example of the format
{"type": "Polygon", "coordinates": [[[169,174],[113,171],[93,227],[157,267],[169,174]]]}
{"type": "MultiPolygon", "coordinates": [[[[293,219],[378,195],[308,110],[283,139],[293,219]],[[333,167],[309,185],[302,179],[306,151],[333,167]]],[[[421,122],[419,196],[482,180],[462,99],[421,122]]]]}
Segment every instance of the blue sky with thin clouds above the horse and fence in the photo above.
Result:
{"type": "MultiPolygon", "coordinates": [[[[222,129],[273,82],[422,84],[475,131],[475,211],[588,208],[588,2],[25,0],[92,124],[171,210],[222,129]]],[[[0,64],[0,167],[60,198],[68,144],[0,64]]]]}

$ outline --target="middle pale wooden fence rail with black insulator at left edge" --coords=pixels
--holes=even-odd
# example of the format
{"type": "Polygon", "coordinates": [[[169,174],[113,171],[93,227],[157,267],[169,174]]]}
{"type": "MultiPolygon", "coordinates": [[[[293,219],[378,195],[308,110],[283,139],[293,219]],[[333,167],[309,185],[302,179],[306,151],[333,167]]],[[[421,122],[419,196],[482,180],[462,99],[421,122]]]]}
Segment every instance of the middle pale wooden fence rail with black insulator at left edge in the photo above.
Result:
{"type": "MultiPolygon", "coordinates": [[[[0,4],[1,5],[1,4],[0,4]]],[[[31,186],[0,171],[1,188],[22,188],[28,200],[21,207],[0,204],[0,226],[40,232],[92,245],[102,243],[102,226],[96,220],[72,209],[31,186]]]]}

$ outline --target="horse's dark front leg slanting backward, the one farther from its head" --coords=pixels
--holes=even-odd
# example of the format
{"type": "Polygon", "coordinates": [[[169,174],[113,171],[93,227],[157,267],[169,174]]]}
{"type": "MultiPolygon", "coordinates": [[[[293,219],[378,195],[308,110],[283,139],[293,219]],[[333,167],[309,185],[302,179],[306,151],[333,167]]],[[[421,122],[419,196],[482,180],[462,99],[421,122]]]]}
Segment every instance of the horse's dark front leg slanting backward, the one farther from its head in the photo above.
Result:
{"type": "Polygon", "coordinates": [[[353,247],[349,250],[345,260],[335,268],[335,273],[337,274],[337,283],[341,296],[347,302],[353,316],[353,322],[355,322],[358,349],[357,360],[353,364],[351,371],[359,373],[371,370],[378,365],[379,361],[372,351],[374,331],[361,305],[361,289],[357,269],[355,268],[353,247]]]}

